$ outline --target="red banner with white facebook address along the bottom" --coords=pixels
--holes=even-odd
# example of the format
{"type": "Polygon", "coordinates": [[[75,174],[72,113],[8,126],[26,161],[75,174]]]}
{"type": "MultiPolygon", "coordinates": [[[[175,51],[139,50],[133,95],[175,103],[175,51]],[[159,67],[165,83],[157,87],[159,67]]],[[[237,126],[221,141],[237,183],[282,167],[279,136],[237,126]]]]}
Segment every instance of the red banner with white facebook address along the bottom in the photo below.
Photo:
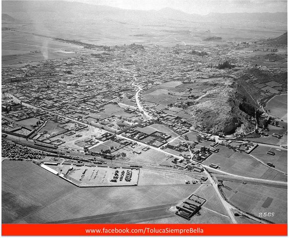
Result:
{"type": "Polygon", "coordinates": [[[287,224],[2,224],[2,236],[287,236],[287,224]]]}

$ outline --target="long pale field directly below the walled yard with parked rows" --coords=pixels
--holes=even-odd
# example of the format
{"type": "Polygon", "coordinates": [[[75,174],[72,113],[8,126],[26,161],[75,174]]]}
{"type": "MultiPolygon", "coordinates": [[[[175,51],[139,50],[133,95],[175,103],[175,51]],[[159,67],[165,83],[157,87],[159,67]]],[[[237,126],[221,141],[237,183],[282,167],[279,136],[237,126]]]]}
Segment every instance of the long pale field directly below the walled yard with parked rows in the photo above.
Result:
{"type": "MultiPolygon", "coordinates": [[[[157,185],[77,188],[66,197],[26,217],[23,222],[54,223],[132,209],[149,210],[150,207],[161,205],[168,209],[189,196],[197,187],[198,185],[157,185]]],[[[121,217],[119,219],[116,222],[121,223],[121,217]]]]}

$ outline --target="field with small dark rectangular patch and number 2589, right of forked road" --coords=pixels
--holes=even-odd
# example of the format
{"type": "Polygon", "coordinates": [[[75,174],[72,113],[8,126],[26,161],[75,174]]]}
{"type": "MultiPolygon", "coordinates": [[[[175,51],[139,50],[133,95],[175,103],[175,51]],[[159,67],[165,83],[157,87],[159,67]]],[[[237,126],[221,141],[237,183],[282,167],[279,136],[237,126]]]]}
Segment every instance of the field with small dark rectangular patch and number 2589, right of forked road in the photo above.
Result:
{"type": "Polygon", "coordinates": [[[264,219],[274,223],[287,223],[287,189],[241,182],[223,183],[231,188],[223,188],[223,191],[236,207],[255,216],[264,212],[274,213],[274,216],[264,219]]]}

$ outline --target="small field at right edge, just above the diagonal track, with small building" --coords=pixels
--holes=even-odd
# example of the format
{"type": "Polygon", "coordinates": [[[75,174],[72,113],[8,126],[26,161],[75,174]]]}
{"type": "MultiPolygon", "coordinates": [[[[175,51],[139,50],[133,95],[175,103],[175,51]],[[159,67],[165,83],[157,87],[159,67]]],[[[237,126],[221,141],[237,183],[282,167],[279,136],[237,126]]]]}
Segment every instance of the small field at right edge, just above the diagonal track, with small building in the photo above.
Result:
{"type": "Polygon", "coordinates": [[[267,146],[258,146],[255,150],[251,152],[251,154],[266,164],[273,163],[276,169],[279,169],[287,173],[287,164],[288,164],[287,150],[280,150],[276,148],[270,148],[267,146]],[[268,151],[274,152],[275,155],[268,155],[267,154],[268,151]]]}

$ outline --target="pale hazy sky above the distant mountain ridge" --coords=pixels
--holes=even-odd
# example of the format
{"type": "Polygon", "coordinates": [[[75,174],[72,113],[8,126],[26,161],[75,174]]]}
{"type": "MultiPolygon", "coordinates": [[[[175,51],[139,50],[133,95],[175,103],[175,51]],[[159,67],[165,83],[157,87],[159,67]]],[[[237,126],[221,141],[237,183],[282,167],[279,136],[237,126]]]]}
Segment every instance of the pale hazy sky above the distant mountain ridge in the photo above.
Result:
{"type": "Polygon", "coordinates": [[[125,9],[159,10],[165,7],[187,13],[287,12],[286,0],[70,0],[125,9]]]}

